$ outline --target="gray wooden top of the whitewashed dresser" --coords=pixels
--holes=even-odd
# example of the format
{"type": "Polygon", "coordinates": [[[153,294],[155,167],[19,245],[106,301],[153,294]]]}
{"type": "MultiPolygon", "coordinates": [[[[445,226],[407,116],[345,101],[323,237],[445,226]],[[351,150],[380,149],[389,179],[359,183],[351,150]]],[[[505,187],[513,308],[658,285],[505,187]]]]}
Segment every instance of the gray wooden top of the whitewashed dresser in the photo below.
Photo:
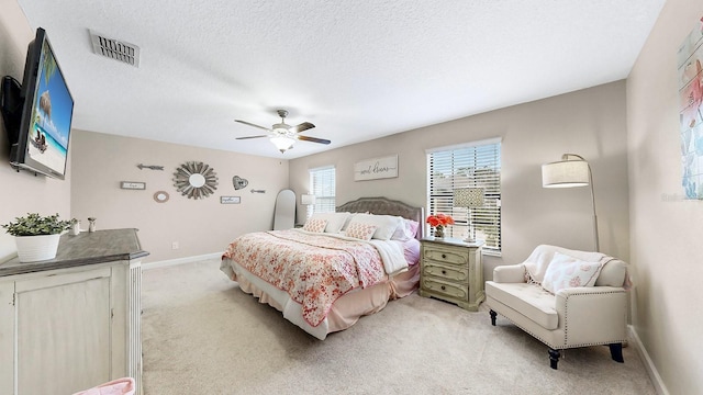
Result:
{"type": "Polygon", "coordinates": [[[133,260],[149,253],[142,249],[137,229],[82,232],[62,235],[56,258],[38,262],[20,262],[18,258],[0,264],[0,276],[77,266],[133,260]]]}

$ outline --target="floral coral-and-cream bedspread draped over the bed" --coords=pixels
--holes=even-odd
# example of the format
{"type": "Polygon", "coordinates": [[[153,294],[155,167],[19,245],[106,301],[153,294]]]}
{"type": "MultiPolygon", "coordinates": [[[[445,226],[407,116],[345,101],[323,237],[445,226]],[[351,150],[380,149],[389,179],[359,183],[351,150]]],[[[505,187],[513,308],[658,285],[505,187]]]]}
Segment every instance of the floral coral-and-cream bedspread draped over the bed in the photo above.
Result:
{"type": "Polygon", "coordinates": [[[308,324],[320,325],[332,304],[356,287],[371,286],[386,276],[376,247],[295,229],[243,235],[230,244],[223,257],[302,305],[308,324]]]}

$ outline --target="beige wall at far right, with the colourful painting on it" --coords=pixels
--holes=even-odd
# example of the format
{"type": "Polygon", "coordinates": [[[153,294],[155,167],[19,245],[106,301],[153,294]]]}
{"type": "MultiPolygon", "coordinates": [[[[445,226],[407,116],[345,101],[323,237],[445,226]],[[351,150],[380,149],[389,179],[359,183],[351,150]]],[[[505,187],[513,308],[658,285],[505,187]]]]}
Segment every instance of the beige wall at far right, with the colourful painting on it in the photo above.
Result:
{"type": "Polygon", "coordinates": [[[677,50],[703,16],[669,0],[627,79],[634,327],[671,394],[703,388],[703,202],[681,196],[677,50]]]}

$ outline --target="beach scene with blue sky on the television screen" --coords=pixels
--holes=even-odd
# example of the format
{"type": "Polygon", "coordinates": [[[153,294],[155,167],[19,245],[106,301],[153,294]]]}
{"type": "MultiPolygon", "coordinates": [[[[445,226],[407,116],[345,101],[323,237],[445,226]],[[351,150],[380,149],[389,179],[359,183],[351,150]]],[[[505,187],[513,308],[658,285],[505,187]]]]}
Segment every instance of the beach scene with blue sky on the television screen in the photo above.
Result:
{"type": "Polygon", "coordinates": [[[46,42],[42,54],[27,153],[33,160],[63,174],[74,101],[46,42]]]}

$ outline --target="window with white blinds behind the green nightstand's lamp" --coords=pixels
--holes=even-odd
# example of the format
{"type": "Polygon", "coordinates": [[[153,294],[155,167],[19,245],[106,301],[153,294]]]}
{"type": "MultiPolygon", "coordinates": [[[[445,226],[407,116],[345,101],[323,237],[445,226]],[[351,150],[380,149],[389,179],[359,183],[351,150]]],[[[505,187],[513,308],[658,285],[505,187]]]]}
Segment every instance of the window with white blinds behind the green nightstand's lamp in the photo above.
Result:
{"type": "Polygon", "coordinates": [[[483,252],[501,252],[501,140],[490,139],[427,150],[429,214],[451,215],[448,237],[466,238],[472,224],[483,252]],[[482,188],[483,206],[470,211],[454,206],[457,188],[482,188]],[[470,216],[470,217],[469,217],[470,216]]]}

